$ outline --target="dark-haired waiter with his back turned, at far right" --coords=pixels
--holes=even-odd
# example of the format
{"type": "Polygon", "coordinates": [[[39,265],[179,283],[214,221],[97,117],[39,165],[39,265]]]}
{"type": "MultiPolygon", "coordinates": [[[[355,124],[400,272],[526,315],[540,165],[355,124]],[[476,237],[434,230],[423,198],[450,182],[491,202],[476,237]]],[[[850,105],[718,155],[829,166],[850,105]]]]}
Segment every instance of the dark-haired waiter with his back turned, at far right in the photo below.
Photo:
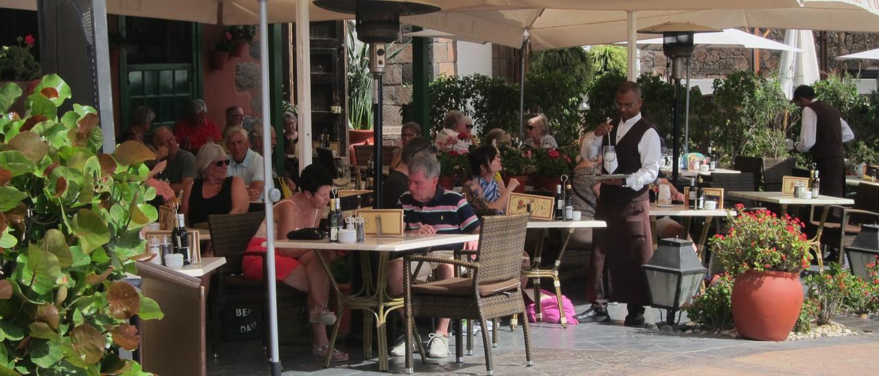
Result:
{"type": "Polygon", "coordinates": [[[839,110],[815,98],[815,90],[800,85],[794,90],[791,103],[803,109],[800,141],[795,148],[800,153],[811,153],[821,178],[819,193],[845,197],[846,171],[842,156],[842,143],[852,141],[854,133],[846,120],[839,117],[839,110]]]}

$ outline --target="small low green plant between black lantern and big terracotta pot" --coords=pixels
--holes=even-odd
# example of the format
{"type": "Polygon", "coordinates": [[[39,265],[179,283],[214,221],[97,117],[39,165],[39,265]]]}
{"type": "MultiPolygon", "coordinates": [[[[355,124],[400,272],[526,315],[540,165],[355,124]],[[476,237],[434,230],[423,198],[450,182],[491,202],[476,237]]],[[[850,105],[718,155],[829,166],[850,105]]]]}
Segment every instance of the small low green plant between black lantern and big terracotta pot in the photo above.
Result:
{"type": "Polygon", "coordinates": [[[686,317],[713,331],[732,329],[732,277],[719,274],[684,307],[686,317]]]}

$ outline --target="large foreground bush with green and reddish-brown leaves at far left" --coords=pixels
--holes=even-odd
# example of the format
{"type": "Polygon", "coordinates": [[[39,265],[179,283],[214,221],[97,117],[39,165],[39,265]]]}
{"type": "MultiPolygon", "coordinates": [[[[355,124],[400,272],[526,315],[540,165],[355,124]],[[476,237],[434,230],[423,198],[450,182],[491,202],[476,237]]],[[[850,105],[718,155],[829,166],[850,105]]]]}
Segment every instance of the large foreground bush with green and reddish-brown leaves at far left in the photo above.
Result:
{"type": "MultiPolygon", "coordinates": [[[[20,95],[0,87],[0,110],[20,95]]],[[[157,217],[144,183],[156,155],[135,141],[101,153],[97,112],[59,113],[69,98],[44,76],[25,113],[0,119],[0,373],[142,374],[117,353],[140,341],[134,315],[162,318],[124,280],[152,256],[139,235],[157,217]]]]}

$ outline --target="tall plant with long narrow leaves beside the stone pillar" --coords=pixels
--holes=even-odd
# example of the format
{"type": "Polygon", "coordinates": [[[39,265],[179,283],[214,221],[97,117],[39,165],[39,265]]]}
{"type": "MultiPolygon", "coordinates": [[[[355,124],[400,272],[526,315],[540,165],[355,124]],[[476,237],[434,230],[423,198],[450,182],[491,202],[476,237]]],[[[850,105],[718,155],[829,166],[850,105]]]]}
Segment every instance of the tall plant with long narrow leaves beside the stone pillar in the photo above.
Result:
{"type": "MultiPolygon", "coordinates": [[[[374,77],[369,71],[369,45],[357,40],[353,21],[348,21],[347,29],[345,48],[348,50],[348,127],[372,129],[374,77]]],[[[393,43],[385,45],[385,51],[388,52],[385,61],[393,60],[405,47],[403,45],[391,50],[393,46],[393,43]]]]}

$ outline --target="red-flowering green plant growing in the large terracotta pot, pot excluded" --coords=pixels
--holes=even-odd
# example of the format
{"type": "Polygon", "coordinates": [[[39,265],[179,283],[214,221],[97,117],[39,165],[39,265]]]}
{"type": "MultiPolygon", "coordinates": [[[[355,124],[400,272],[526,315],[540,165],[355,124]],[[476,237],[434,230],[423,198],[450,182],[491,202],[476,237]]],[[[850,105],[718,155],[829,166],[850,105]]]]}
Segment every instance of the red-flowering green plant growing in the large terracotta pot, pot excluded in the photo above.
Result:
{"type": "Polygon", "coordinates": [[[803,271],[812,255],[803,234],[803,222],[788,214],[777,216],[768,210],[727,216],[730,229],[709,241],[723,269],[735,277],[745,271],[803,271]]]}

